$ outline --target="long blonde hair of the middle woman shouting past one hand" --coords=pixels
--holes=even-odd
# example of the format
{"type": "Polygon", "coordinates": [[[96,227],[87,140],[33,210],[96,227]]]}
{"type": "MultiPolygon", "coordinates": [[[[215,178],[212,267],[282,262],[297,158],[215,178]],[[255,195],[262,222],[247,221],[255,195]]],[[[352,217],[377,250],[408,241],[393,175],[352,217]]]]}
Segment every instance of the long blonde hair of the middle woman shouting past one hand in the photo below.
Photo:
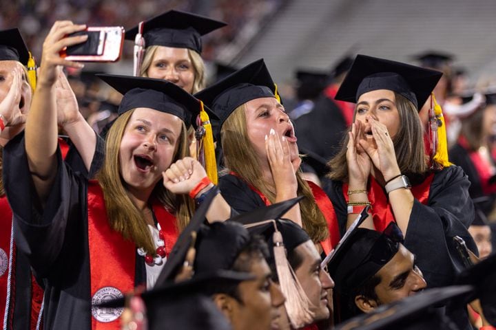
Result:
{"type": "MultiPolygon", "coordinates": [[[[260,163],[248,137],[245,111],[246,105],[240,105],[229,115],[220,130],[224,162],[229,170],[236,172],[273,203],[276,201],[276,193],[263,179],[260,163]]],[[[303,229],[314,242],[324,241],[329,236],[324,215],[320,212],[307,181],[302,179],[300,170],[296,173],[296,179],[298,180],[297,193],[304,196],[304,199],[300,201],[303,229]]]]}

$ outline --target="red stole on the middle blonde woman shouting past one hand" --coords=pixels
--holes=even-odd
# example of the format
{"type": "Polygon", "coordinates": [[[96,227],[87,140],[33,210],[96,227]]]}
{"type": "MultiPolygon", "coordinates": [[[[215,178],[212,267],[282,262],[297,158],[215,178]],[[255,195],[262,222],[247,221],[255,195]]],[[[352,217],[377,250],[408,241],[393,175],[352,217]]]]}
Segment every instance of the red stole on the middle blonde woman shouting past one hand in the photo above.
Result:
{"type": "MultiPolygon", "coordinates": [[[[235,175],[236,177],[242,179],[242,177],[240,177],[238,173],[231,171],[229,174],[235,175]]],[[[313,198],[315,199],[320,212],[324,214],[324,218],[327,221],[327,227],[329,228],[329,237],[325,241],[321,241],[320,246],[322,246],[322,250],[324,250],[325,254],[329,254],[329,252],[331,252],[331,250],[335,247],[336,244],[338,244],[339,241],[338,222],[335,221],[333,217],[333,215],[335,214],[334,208],[324,190],[322,190],[319,186],[311,181],[307,181],[307,183],[312,190],[313,198]]],[[[249,184],[247,181],[245,181],[245,184],[247,184],[251,190],[256,192],[258,196],[260,196],[266,206],[271,205],[269,199],[265,195],[263,195],[260,190],[258,190],[254,186],[251,186],[251,184],[249,184]]]]}

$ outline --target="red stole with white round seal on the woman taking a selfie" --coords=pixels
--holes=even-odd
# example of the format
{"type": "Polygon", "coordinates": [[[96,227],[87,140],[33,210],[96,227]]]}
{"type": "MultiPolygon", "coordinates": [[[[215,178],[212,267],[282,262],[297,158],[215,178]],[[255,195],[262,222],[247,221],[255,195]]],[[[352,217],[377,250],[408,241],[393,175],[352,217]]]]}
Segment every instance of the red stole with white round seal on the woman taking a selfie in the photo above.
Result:
{"type": "MultiPolygon", "coordinates": [[[[92,301],[117,298],[134,289],[136,245],[112,230],[107,221],[103,191],[98,181],[90,180],[87,195],[88,244],[90,245],[90,276],[92,301]]],[[[167,254],[176,243],[176,218],[165,208],[152,206],[158,223],[165,232],[167,254]]],[[[120,329],[122,309],[92,309],[92,329],[120,329]]]]}

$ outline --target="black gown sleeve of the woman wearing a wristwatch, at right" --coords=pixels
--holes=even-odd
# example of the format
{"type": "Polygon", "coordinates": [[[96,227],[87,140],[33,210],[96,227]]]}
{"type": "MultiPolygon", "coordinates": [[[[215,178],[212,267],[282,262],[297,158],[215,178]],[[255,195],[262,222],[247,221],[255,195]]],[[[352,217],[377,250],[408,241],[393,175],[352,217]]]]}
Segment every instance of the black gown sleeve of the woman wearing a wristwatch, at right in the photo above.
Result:
{"type": "Polygon", "coordinates": [[[461,236],[468,248],[477,252],[467,230],[474,218],[469,185],[461,168],[449,166],[433,178],[428,205],[417,200],[413,203],[404,245],[417,256],[417,265],[429,287],[452,284],[463,269],[454,236],[461,236]]]}

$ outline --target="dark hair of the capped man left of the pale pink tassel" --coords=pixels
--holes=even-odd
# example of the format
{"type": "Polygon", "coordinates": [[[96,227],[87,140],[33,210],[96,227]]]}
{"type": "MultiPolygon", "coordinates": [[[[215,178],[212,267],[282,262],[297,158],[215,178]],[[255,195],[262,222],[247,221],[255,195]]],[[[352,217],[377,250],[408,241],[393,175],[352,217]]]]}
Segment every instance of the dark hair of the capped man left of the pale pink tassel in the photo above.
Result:
{"type": "MultiPolygon", "coordinates": [[[[251,265],[253,265],[254,261],[266,260],[267,258],[269,258],[269,248],[267,248],[267,243],[262,239],[262,236],[250,235],[249,241],[240,250],[230,270],[249,273],[251,272],[251,265]]],[[[209,292],[211,294],[227,294],[238,300],[240,304],[243,304],[238,290],[238,284],[227,283],[214,285],[209,292]]]]}

